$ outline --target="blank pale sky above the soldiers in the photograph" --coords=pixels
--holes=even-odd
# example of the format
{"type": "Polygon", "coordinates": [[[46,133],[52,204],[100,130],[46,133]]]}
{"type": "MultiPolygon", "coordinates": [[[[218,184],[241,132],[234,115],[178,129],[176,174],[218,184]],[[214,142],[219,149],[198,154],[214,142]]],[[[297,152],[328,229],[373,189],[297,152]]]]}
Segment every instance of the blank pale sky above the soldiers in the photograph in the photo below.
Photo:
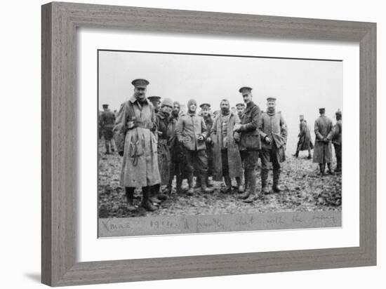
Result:
{"type": "Polygon", "coordinates": [[[226,98],[231,107],[243,102],[239,88],[253,88],[253,101],[266,110],[266,98],[277,98],[288,126],[287,153],[295,152],[299,133],[299,115],[304,114],[314,139],[314,120],[319,107],[335,123],[335,112],[342,109],[342,62],[240,58],[211,55],[170,55],[100,51],[99,109],[102,104],[119,109],[133,95],[133,79],[144,78],[147,96],[159,95],[187,104],[208,102],[219,109],[226,98]]]}

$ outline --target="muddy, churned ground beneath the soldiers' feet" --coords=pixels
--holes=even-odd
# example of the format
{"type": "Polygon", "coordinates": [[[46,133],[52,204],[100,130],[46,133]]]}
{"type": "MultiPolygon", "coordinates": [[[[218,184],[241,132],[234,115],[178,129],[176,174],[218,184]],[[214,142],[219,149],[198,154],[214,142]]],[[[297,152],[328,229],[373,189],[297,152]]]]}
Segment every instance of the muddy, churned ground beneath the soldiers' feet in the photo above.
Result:
{"type": "MultiPolygon", "coordinates": [[[[287,152],[287,159],[282,163],[281,185],[284,191],[279,194],[262,195],[253,203],[243,203],[237,199],[237,191],[222,194],[221,182],[213,182],[213,194],[202,194],[199,189],[194,196],[175,194],[154,212],[147,212],[140,207],[141,193],[135,191],[135,212],[126,210],[124,189],[119,186],[121,156],[105,155],[104,142],[99,146],[98,196],[100,217],[140,217],[154,215],[215,215],[232,213],[268,213],[295,212],[314,210],[340,210],[342,204],[341,175],[321,177],[318,166],[307,159],[307,152],[301,152],[295,159],[287,152]]],[[[260,163],[260,161],[259,161],[260,163]]],[[[335,167],[335,163],[333,163],[335,167]]],[[[260,192],[260,168],[258,173],[258,191],[260,192]]],[[[269,186],[272,185],[272,171],[269,173],[269,186]]],[[[235,181],[233,180],[233,184],[235,181]]],[[[184,180],[183,186],[187,187],[184,180]]]]}

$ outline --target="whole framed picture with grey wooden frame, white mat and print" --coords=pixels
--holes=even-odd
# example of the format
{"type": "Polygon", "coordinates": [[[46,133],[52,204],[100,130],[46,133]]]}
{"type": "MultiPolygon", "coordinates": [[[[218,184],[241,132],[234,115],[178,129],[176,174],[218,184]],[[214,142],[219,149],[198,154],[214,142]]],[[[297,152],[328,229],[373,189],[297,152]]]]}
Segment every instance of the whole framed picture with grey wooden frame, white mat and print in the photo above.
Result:
{"type": "Polygon", "coordinates": [[[42,6],[42,282],[375,265],[375,69],[370,22],[42,6]]]}

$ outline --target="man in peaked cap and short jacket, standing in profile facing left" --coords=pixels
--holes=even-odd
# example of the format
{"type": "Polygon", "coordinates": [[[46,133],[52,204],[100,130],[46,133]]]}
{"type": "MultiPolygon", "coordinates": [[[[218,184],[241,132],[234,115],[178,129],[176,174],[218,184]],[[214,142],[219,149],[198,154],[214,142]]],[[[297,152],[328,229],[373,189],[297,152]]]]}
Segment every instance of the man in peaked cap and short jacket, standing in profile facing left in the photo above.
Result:
{"type": "Polygon", "coordinates": [[[246,203],[255,201],[256,173],[255,168],[258,165],[259,150],[261,149],[259,121],[260,108],[252,101],[252,88],[244,86],[239,89],[246,103],[246,110],[241,117],[241,123],[234,125],[234,131],[241,133],[240,147],[241,160],[245,170],[245,189],[243,194],[239,195],[246,203]]]}

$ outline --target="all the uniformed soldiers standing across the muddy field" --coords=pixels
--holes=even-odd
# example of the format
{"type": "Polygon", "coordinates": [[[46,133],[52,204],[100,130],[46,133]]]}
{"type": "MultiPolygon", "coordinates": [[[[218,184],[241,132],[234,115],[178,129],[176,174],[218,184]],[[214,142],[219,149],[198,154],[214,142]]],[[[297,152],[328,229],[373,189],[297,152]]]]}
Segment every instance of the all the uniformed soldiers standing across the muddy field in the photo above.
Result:
{"type": "MultiPolygon", "coordinates": [[[[256,168],[261,160],[261,191],[270,194],[282,190],[279,185],[281,163],[286,159],[287,126],[281,112],[276,110],[276,98],[267,98],[267,109],[262,112],[253,102],[252,88],[239,89],[244,102],[230,107],[229,100],[220,101],[220,109],[211,114],[211,105],[201,104],[197,113],[197,101],[187,102],[187,112],[180,111],[179,102],[158,96],[146,97],[149,81],[135,79],[133,96],[124,102],[114,114],[103,105],[100,128],[105,137],[106,153],[114,152],[123,156],[121,186],[125,187],[127,208],[135,210],[134,190],[142,188],[141,206],[146,210],[157,210],[171,194],[172,181],[176,176],[177,194],[194,195],[199,187],[204,193],[213,192],[209,179],[224,181],[221,191],[232,191],[232,179],[237,182],[237,198],[245,203],[257,199],[256,168]],[[114,141],[115,140],[115,141],[114,141]],[[272,163],[272,188],[267,185],[269,168],[272,163]],[[194,185],[194,176],[196,183],[194,185]],[[182,189],[182,180],[187,179],[188,187],[182,189]],[[244,182],[243,182],[244,179],[244,182]],[[166,190],[162,190],[162,186],[166,190]]],[[[341,170],[341,112],[336,113],[337,124],[319,109],[320,117],[315,121],[315,146],[310,130],[303,116],[300,116],[300,134],[297,151],[314,148],[314,162],[319,163],[324,175],[326,164],[331,168],[331,141],[335,146],[338,165],[341,170]],[[338,116],[340,118],[338,119],[338,116]]]]}

